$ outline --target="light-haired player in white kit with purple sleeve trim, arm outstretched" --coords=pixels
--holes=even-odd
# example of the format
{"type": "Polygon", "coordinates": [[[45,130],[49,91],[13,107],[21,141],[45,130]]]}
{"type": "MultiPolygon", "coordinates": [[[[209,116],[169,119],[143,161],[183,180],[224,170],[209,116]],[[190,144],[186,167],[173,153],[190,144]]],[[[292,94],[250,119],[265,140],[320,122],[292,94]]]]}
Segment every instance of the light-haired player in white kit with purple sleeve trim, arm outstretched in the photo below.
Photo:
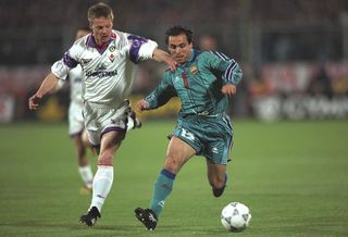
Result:
{"type": "Polygon", "coordinates": [[[125,138],[127,116],[132,113],[125,100],[133,88],[137,63],[152,59],[164,62],[175,71],[175,62],[157,42],[136,35],[112,29],[113,12],[105,3],[88,9],[91,34],[78,39],[64,57],[51,67],[38,91],[29,98],[29,109],[36,110],[39,100],[59,79],[77,64],[84,72],[83,114],[90,142],[97,148],[98,170],[92,183],[92,199],[79,221],[95,225],[101,215],[114,178],[113,158],[125,138]]]}

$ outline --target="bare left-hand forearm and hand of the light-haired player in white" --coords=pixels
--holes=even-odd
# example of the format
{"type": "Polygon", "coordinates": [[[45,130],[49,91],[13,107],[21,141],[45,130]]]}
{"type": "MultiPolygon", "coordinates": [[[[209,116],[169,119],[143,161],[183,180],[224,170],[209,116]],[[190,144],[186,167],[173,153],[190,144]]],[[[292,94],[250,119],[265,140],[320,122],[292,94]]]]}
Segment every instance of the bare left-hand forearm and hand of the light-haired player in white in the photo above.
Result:
{"type": "Polygon", "coordinates": [[[40,88],[34,96],[29,98],[29,109],[36,110],[39,105],[40,99],[49,91],[51,91],[58,83],[58,78],[53,73],[48,74],[41,83],[40,88]]]}

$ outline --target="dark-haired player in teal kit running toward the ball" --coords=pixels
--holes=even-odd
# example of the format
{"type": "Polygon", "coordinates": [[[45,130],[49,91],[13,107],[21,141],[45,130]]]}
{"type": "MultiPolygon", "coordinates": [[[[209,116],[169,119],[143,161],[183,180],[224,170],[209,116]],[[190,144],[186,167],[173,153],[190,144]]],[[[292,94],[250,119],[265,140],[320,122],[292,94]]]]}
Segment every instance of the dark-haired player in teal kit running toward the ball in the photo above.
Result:
{"type": "Polygon", "coordinates": [[[196,154],[206,157],[208,179],[214,197],[223,194],[233,141],[233,128],[225,110],[228,97],[236,92],[243,76],[235,60],[219,52],[192,49],[192,32],[189,29],[174,26],[166,30],[165,41],[177,63],[176,71],[166,71],[160,85],[137,102],[137,109],[152,110],[177,96],[182,110],[169,144],[166,160],[154,184],[150,207],[135,210],[136,217],[148,229],[156,228],[176,174],[196,154]]]}

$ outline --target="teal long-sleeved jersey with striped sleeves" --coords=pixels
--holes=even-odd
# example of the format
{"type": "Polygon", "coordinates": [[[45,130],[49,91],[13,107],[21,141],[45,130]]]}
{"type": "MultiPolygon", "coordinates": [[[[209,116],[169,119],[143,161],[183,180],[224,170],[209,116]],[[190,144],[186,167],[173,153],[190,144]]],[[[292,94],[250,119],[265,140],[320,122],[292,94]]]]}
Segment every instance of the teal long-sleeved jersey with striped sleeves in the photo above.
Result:
{"type": "Polygon", "coordinates": [[[177,96],[182,102],[179,116],[222,114],[228,103],[221,91],[223,85],[237,85],[241,76],[235,60],[223,53],[192,49],[188,61],[178,65],[175,72],[166,71],[160,85],[146,100],[149,109],[156,109],[177,96]]]}

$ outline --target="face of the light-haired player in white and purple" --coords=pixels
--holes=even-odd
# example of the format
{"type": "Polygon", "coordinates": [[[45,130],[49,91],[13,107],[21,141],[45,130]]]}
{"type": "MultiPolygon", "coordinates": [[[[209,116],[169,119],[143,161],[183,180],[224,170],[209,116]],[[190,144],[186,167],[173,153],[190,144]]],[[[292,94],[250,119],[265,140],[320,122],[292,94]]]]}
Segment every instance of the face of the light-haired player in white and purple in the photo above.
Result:
{"type": "Polygon", "coordinates": [[[98,46],[107,43],[112,33],[112,20],[110,17],[94,18],[90,23],[92,34],[98,46]]]}

